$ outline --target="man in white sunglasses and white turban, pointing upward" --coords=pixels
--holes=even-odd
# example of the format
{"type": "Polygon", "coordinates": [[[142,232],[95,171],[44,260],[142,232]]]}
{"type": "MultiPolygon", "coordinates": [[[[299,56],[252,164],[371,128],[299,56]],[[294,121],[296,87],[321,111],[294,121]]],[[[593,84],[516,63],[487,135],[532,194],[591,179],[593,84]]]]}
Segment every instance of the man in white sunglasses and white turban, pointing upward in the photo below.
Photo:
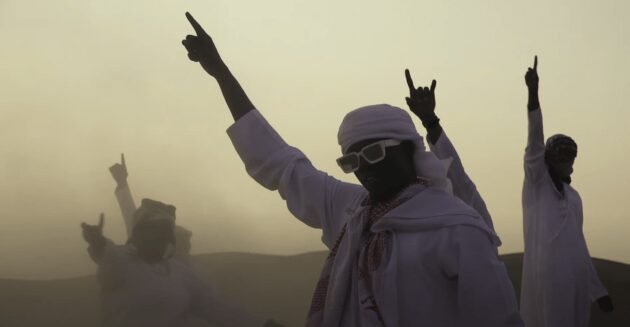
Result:
{"type": "Polygon", "coordinates": [[[219,83],[247,172],[323,231],[330,255],[307,326],[522,326],[496,235],[448,193],[447,168],[406,111],[382,104],[345,116],[337,163],[361,185],[339,181],[284,142],[187,18],[197,34],[183,41],[188,57],[219,83]]]}

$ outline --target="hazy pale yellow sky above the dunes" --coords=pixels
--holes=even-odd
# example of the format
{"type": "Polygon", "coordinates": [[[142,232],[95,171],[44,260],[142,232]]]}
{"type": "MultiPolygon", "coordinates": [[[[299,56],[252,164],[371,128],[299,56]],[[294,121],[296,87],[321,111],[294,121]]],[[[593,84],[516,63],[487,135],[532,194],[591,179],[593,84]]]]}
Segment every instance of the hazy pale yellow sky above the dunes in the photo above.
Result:
{"type": "Polygon", "coordinates": [[[502,253],[523,249],[523,76],[537,54],[546,135],[579,144],[591,254],[630,262],[628,1],[0,0],[0,278],[92,273],[79,224],[101,211],[124,242],[108,171],[121,152],[136,201],[177,206],[195,253],[324,249],[246,175],[216,82],[180,43],[185,11],[285,140],[348,181],[334,161],[343,115],[406,108],[405,68],[437,79],[502,253]]]}

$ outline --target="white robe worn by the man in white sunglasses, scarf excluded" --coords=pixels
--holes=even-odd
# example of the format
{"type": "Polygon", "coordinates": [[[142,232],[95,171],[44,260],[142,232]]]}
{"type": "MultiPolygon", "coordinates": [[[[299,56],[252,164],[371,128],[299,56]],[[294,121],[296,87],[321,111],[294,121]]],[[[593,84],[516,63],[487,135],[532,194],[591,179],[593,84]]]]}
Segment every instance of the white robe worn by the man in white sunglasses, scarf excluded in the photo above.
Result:
{"type": "MultiPolygon", "coordinates": [[[[331,249],[343,226],[320,326],[380,326],[364,316],[356,274],[367,192],[315,169],[256,110],[228,134],[247,172],[278,190],[289,211],[322,229],[331,249]],[[364,323],[364,325],[362,325],[364,323]]],[[[445,192],[418,186],[372,232],[391,232],[373,274],[374,298],[387,326],[522,326],[514,290],[496,251],[496,236],[470,207],[445,192]]]]}

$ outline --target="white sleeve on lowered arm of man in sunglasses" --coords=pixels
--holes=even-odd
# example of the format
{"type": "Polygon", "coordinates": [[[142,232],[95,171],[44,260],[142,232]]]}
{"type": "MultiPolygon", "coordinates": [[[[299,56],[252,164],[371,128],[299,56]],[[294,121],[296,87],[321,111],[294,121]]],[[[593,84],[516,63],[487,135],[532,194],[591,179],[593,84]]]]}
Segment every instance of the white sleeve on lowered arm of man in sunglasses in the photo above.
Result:
{"type": "Polygon", "coordinates": [[[523,326],[514,287],[487,232],[457,226],[455,267],[462,326],[523,326]]]}

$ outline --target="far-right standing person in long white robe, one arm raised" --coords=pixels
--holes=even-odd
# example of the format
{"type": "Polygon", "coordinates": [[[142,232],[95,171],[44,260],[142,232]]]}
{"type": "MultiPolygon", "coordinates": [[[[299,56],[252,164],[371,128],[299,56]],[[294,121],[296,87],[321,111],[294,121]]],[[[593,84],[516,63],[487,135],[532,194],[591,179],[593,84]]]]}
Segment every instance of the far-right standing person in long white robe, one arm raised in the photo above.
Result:
{"type": "Polygon", "coordinates": [[[551,136],[545,145],[538,99],[538,58],[525,74],[529,132],[525,149],[525,255],[521,314],[528,327],[588,326],[591,302],[612,311],[582,232],[582,200],[571,187],[577,144],[551,136]]]}

